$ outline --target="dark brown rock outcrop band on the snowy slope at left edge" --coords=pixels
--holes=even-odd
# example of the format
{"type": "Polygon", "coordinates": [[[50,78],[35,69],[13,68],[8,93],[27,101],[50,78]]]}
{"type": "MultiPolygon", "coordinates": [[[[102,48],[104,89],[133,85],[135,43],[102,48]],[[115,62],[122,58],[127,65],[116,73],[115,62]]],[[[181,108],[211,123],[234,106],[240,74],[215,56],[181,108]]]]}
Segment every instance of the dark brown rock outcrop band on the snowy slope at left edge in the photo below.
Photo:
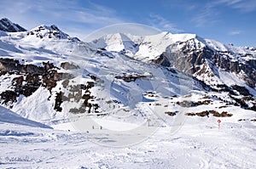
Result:
{"type": "MultiPolygon", "coordinates": [[[[20,95],[29,97],[39,87],[45,87],[51,93],[52,88],[56,87],[58,81],[73,78],[71,74],[58,72],[57,68],[49,62],[43,62],[43,65],[21,65],[19,60],[0,59],[0,76],[5,74],[16,76],[12,80],[13,90],[0,93],[2,103],[12,107],[12,104],[17,101],[17,97],[20,95]]],[[[61,93],[57,93],[55,97],[54,109],[57,111],[61,111],[61,96],[61,93]]]]}

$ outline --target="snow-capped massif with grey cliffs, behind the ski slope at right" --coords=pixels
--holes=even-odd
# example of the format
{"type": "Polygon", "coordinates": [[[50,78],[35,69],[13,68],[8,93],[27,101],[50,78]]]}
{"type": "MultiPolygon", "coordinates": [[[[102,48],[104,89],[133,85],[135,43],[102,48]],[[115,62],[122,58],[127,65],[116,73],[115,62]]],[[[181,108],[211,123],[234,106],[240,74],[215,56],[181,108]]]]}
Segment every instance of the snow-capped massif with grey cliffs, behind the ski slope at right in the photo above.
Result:
{"type": "Polygon", "coordinates": [[[147,63],[174,67],[212,87],[224,84],[244,86],[246,83],[255,88],[256,48],[224,45],[195,34],[169,32],[147,37],[107,35],[93,43],[147,63]]]}

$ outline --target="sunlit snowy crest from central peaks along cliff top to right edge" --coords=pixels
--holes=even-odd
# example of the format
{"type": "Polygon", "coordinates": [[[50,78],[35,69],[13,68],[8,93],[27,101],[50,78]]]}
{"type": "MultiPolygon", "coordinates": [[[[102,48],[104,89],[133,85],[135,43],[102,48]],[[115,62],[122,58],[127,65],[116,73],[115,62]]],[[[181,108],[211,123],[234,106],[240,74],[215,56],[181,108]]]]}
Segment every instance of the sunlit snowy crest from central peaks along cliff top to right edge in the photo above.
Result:
{"type": "MultiPolygon", "coordinates": [[[[188,42],[193,40],[191,44],[188,44],[191,49],[201,49],[204,47],[212,48],[218,52],[230,54],[252,54],[255,59],[255,48],[248,47],[236,47],[232,44],[225,45],[221,42],[217,42],[210,39],[203,39],[196,34],[172,34],[170,32],[161,32],[160,34],[138,37],[131,34],[119,33],[110,34],[105,37],[101,37],[92,43],[98,48],[106,48],[110,51],[120,52],[121,50],[129,51],[131,46],[125,47],[123,42],[130,42],[137,44],[138,51],[134,54],[137,59],[144,59],[144,54],[149,54],[151,59],[154,59],[158,55],[166,51],[166,48],[174,43],[188,42]],[[116,48],[113,48],[115,44],[116,48]]],[[[181,48],[178,48],[181,49],[181,48]]],[[[148,59],[149,60],[149,59],[148,59]]]]}

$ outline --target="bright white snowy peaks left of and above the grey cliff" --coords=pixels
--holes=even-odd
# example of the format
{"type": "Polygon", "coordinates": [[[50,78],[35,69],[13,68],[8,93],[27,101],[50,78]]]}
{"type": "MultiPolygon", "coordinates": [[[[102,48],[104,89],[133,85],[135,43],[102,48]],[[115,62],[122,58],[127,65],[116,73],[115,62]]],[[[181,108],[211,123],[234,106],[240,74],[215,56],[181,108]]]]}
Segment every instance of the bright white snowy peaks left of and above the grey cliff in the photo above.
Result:
{"type": "Polygon", "coordinates": [[[149,61],[165,52],[166,48],[172,43],[186,42],[195,37],[195,34],[172,34],[166,31],[145,37],[118,33],[101,37],[93,41],[92,44],[98,48],[106,48],[109,51],[125,51],[130,57],[149,61]]]}

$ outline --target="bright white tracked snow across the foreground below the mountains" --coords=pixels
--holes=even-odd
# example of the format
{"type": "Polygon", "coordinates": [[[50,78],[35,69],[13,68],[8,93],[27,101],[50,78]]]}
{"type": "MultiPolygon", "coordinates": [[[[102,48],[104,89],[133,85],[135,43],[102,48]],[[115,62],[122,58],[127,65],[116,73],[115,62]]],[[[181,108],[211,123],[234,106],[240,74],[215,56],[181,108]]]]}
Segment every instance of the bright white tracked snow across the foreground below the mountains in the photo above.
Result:
{"type": "MultiPolygon", "coordinates": [[[[188,117],[175,133],[172,126],[155,127],[143,142],[114,148],[108,145],[117,140],[108,137],[104,127],[82,133],[68,131],[73,124],[66,123],[50,129],[5,108],[0,113],[0,168],[256,167],[253,121],[220,118],[218,127],[212,115],[188,117]],[[99,140],[104,146],[96,144],[99,140]]],[[[150,127],[145,125],[145,131],[150,127]]]]}

